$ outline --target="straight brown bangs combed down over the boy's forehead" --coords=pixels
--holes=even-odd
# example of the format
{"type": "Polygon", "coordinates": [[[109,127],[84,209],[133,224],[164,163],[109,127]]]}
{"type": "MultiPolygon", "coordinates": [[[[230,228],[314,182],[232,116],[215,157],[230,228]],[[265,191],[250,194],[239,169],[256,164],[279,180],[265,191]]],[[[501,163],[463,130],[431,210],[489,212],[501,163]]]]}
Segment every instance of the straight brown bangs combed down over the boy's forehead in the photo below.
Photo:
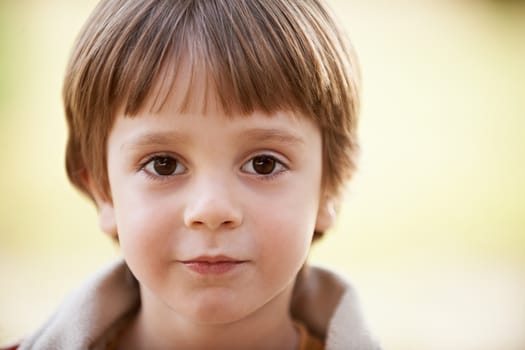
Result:
{"type": "Polygon", "coordinates": [[[348,82],[336,57],[326,57],[334,42],[315,25],[314,19],[323,19],[319,10],[310,1],[151,2],[113,46],[118,56],[108,76],[107,102],[130,116],[147,99],[161,108],[171,93],[181,101],[181,112],[190,106],[205,111],[207,99],[196,99],[202,93],[215,94],[227,115],[295,109],[317,116],[327,99],[345,106],[344,94],[329,88],[339,82],[345,90],[348,82]],[[313,11],[316,16],[306,20],[305,13],[313,11]],[[183,84],[175,84],[181,79],[183,84]],[[172,91],[174,85],[185,88],[172,91]]]}

